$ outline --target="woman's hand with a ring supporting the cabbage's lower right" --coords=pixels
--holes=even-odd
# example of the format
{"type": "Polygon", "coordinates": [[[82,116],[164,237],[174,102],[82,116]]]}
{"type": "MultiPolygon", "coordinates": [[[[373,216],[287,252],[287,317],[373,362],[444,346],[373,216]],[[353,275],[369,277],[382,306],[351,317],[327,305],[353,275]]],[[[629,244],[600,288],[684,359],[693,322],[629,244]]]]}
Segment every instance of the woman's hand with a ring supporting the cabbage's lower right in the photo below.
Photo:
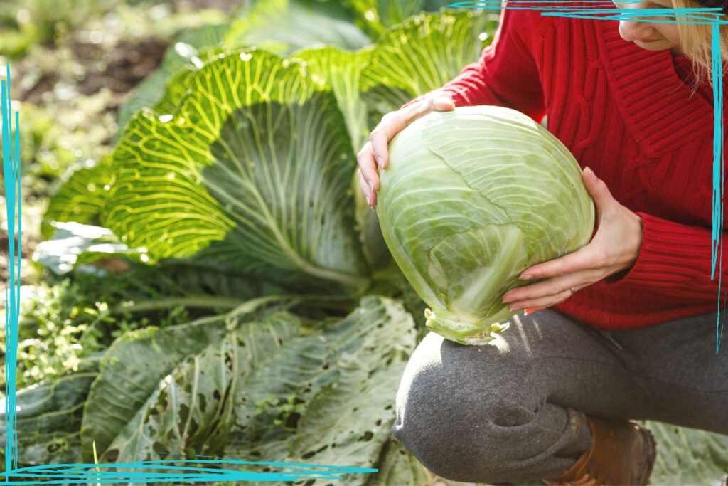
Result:
{"type": "Polygon", "coordinates": [[[596,206],[594,238],[574,253],[523,270],[522,280],[546,280],[507,291],[503,302],[510,304],[510,310],[529,313],[558,304],[636,261],[642,245],[642,219],[617,203],[590,168],[582,171],[582,179],[596,206]]]}

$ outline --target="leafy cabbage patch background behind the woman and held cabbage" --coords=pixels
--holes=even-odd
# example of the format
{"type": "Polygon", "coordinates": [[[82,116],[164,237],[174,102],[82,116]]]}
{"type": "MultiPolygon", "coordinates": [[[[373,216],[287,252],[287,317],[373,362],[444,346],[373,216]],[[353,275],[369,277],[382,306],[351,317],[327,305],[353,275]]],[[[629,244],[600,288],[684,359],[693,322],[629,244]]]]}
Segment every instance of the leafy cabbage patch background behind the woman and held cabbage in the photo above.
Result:
{"type": "MultiPolygon", "coordinates": [[[[22,146],[21,466],[93,462],[95,443],[101,462],[456,484],[389,436],[425,306],[354,179],[381,116],[491,42],[497,11],[449,3],[0,3],[22,146]]],[[[3,216],[3,299],[10,243],[3,216]]],[[[649,427],[653,484],[719,484],[725,437],[649,427]]]]}

